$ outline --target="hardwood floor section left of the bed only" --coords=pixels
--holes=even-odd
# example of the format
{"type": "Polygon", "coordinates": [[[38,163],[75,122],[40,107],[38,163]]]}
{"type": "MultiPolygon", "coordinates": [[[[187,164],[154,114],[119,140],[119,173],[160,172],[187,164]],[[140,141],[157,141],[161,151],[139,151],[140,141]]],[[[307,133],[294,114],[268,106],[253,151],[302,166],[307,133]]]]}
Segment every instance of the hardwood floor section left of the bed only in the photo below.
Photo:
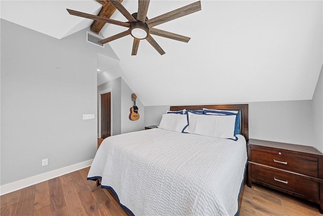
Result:
{"type": "Polygon", "coordinates": [[[87,181],[89,167],[0,197],[3,215],[125,215],[107,190],[87,181]]]}

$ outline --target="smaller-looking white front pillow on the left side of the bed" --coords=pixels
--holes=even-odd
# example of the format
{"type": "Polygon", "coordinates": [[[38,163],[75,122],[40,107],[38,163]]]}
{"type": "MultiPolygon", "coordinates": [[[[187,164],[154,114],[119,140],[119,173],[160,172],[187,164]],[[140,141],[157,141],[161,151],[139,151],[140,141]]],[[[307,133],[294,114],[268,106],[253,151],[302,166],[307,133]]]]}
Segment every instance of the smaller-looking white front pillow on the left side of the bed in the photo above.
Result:
{"type": "Polygon", "coordinates": [[[158,128],[182,133],[187,125],[187,116],[184,114],[167,113],[161,116],[158,128]]]}

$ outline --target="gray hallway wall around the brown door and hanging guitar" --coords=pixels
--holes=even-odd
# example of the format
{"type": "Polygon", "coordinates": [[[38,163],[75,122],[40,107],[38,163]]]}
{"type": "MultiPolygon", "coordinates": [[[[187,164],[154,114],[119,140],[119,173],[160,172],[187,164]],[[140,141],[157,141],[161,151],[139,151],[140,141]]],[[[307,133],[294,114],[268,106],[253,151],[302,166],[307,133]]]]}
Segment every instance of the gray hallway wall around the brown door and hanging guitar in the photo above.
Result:
{"type": "MultiPolygon", "coordinates": [[[[98,107],[97,115],[99,116],[99,92],[112,89],[112,135],[124,134],[128,132],[140,131],[144,129],[145,112],[140,98],[136,99],[136,106],[139,109],[140,118],[136,121],[129,119],[130,108],[133,106],[131,94],[134,93],[122,77],[98,85],[98,107]]],[[[97,125],[99,128],[99,122],[97,125]]],[[[99,134],[99,131],[97,131],[99,134]]]]}

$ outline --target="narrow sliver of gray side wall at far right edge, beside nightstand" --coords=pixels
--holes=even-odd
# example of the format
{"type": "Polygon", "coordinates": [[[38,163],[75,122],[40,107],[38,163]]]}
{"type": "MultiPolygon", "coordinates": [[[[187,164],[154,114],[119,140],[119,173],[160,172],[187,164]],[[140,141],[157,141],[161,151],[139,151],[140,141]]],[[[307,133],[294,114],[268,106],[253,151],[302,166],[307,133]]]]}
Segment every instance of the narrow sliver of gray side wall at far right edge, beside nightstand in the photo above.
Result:
{"type": "Polygon", "coordinates": [[[314,147],[323,153],[323,66],[312,100],[314,147]]]}

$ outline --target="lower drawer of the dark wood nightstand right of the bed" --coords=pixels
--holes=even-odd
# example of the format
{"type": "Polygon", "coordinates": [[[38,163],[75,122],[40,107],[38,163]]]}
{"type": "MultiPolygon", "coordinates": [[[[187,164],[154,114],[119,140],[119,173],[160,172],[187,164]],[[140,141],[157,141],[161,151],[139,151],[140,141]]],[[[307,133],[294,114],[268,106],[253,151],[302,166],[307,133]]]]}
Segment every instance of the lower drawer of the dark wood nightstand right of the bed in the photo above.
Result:
{"type": "Polygon", "coordinates": [[[261,167],[255,164],[252,164],[251,166],[251,176],[252,180],[263,182],[315,200],[319,200],[318,182],[300,178],[295,174],[261,167]]]}

